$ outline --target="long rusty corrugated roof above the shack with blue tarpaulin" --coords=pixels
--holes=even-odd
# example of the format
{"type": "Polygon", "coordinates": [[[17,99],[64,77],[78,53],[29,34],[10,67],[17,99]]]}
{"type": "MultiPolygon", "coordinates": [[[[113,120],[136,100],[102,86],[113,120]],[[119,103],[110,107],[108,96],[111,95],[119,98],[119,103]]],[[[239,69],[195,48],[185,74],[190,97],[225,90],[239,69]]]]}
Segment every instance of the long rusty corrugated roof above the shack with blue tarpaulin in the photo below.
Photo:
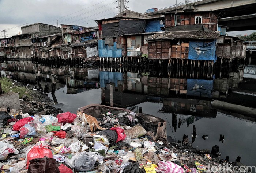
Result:
{"type": "Polygon", "coordinates": [[[173,39],[218,39],[220,31],[175,31],[157,33],[146,40],[173,40],[173,39]]]}

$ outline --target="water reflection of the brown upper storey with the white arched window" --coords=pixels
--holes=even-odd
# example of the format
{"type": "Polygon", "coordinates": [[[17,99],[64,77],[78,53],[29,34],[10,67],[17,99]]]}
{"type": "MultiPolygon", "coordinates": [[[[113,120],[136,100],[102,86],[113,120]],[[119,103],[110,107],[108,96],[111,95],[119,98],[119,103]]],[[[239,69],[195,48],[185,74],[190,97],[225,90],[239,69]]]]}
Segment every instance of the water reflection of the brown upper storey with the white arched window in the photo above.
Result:
{"type": "Polygon", "coordinates": [[[212,109],[211,101],[181,98],[164,98],[163,111],[196,115],[203,117],[216,117],[217,110],[212,109]]]}

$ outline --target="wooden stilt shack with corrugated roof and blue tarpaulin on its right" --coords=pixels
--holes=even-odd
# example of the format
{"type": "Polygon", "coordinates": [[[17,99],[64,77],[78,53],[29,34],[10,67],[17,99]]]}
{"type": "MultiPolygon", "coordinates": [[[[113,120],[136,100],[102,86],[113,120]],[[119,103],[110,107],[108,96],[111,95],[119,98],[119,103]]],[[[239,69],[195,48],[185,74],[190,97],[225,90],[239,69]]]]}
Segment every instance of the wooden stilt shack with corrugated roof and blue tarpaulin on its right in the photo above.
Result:
{"type": "Polygon", "coordinates": [[[148,37],[148,58],[167,59],[169,66],[213,66],[216,61],[217,31],[172,31],[148,37]]]}

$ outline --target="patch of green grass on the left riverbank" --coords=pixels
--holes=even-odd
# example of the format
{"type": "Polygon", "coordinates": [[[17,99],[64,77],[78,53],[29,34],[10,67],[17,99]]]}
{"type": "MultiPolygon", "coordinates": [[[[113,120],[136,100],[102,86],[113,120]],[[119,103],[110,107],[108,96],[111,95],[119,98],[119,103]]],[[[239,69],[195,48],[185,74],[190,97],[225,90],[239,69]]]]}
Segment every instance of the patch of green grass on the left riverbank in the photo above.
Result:
{"type": "Polygon", "coordinates": [[[26,87],[16,86],[13,84],[13,81],[8,78],[0,78],[0,81],[1,81],[2,91],[4,93],[8,93],[10,91],[14,93],[18,93],[20,99],[25,94],[27,95],[27,97],[29,97],[29,100],[31,101],[33,100],[32,90],[27,89],[26,87]]]}

